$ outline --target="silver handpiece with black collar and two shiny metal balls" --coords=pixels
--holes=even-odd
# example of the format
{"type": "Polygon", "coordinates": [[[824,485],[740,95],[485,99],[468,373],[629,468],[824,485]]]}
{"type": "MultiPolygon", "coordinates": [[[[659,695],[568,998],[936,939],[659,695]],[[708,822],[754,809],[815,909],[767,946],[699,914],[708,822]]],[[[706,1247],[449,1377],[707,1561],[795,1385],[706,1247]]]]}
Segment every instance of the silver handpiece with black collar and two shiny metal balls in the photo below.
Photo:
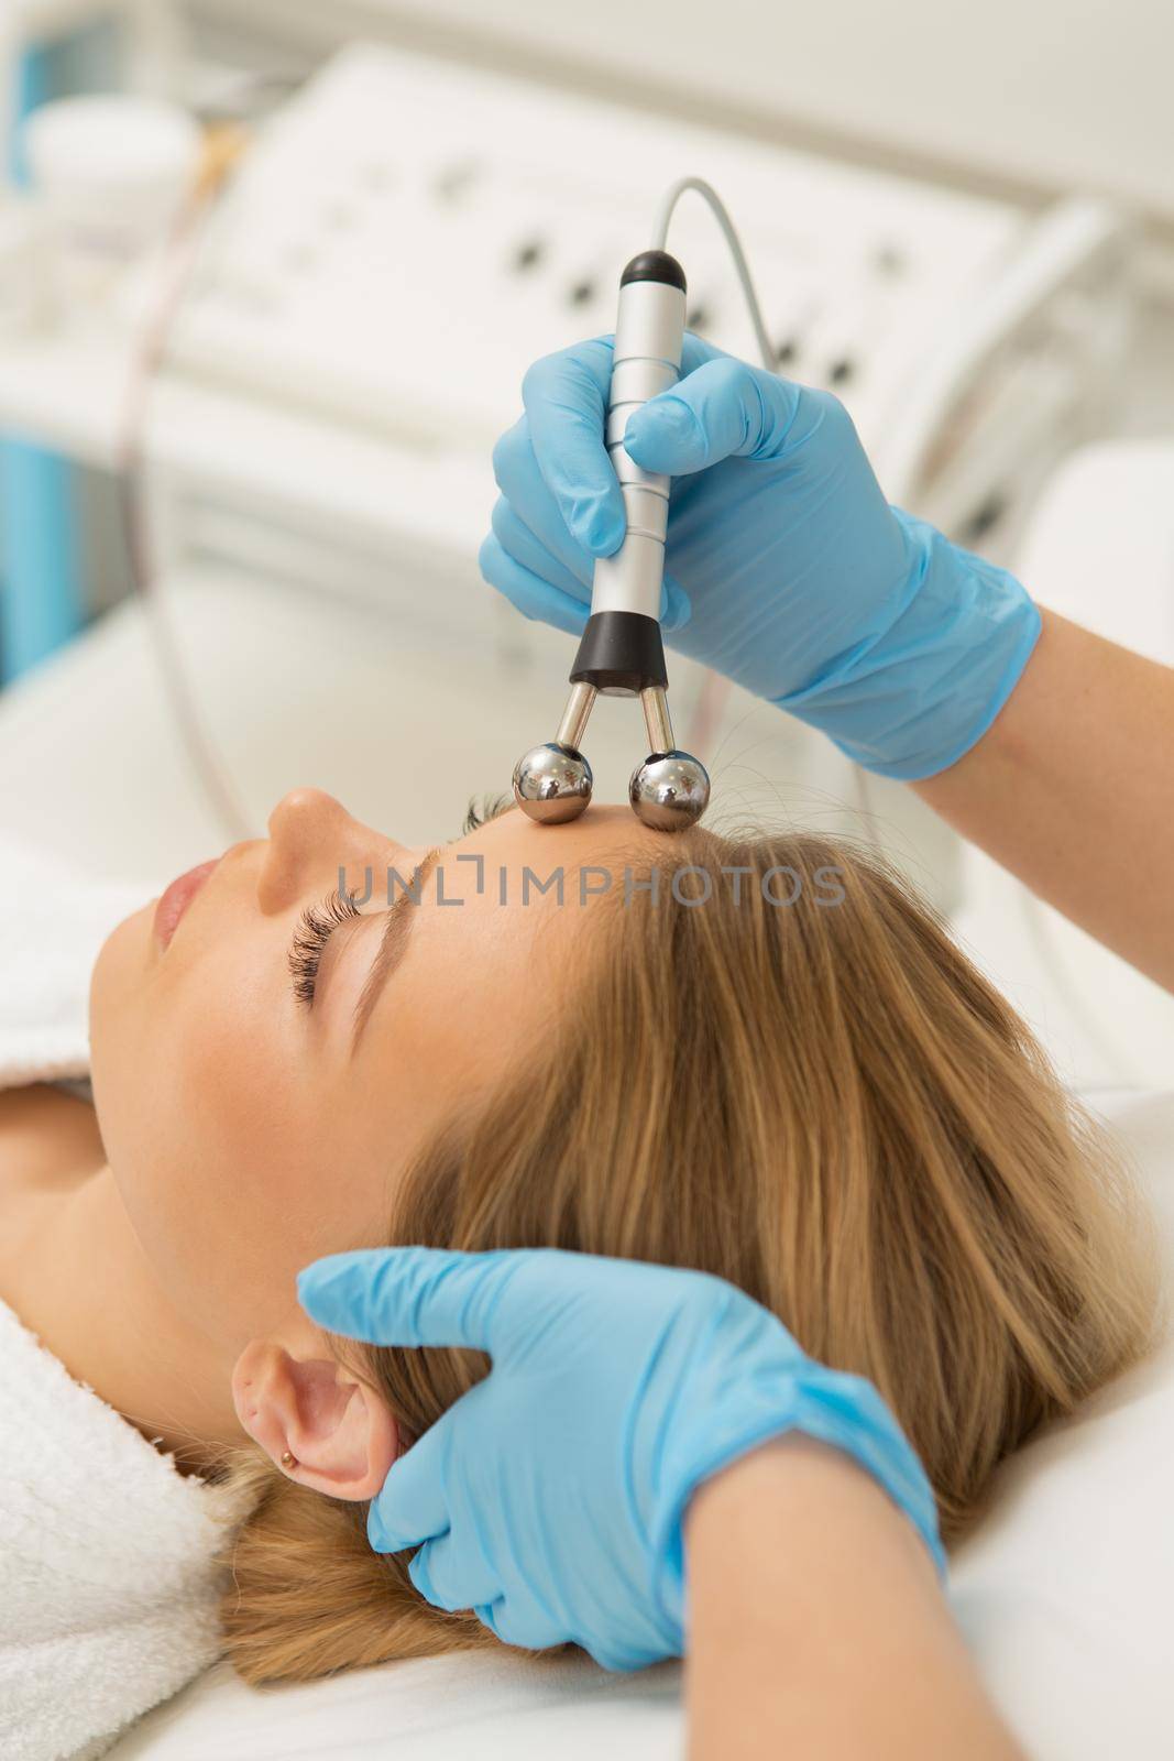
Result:
{"type": "Polygon", "coordinates": [[[620,278],[616,349],[607,396],[607,454],[623,493],[627,530],[613,556],[600,556],[570,697],[549,745],[514,766],[514,799],[540,824],[577,819],[591,799],[591,766],[581,752],[597,696],[639,697],[649,755],[632,771],[628,799],[658,831],[695,826],[709,803],[704,766],[678,752],[669,718],[669,674],[660,636],[669,477],[641,470],[623,446],[628,419],[681,377],[685,271],[665,250],[646,250],[620,278]]]}

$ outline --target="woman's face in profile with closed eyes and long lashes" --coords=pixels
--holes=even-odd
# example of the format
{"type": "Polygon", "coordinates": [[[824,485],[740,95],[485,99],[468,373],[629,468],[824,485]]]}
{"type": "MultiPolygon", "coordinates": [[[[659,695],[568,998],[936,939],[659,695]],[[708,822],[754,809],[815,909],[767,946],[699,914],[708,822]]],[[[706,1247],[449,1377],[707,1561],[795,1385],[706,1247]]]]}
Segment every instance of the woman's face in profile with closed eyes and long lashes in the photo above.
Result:
{"type": "Polygon", "coordinates": [[[176,1308],[239,1351],[289,1315],[301,1266],[384,1242],[421,1139],[572,1006],[604,875],[621,889],[667,842],[627,808],[560,828],[512,810],[431,852],[297,789],[169,940],[155,902],[120,925],[92,984],[93,1094],[176,1308]],[[560,870],[561,905],[539,891],[560,870]],[[357,916],[324,909],[340,886],[357,916]]]}

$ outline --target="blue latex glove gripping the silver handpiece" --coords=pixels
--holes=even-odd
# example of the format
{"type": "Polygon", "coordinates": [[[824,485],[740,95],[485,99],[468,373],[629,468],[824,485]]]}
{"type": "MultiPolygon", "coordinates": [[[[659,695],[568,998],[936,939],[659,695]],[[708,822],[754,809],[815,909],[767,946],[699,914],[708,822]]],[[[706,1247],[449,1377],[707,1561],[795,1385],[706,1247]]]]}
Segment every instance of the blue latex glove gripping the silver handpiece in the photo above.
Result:
{"type": "MultiPolygon", "coordinates": [[[[625,446],[674,479],[671,646],[780,704],[868,770],[945,770],[991,726],[1040,620],[1003,569],[889,507],[843,405],[685,338],[681,380],[625,446]]],[[[486,579],[581,630],[595,556],[623,541],[602,428],[611,338],[537,361],[493,463],[486,579]]]]}

